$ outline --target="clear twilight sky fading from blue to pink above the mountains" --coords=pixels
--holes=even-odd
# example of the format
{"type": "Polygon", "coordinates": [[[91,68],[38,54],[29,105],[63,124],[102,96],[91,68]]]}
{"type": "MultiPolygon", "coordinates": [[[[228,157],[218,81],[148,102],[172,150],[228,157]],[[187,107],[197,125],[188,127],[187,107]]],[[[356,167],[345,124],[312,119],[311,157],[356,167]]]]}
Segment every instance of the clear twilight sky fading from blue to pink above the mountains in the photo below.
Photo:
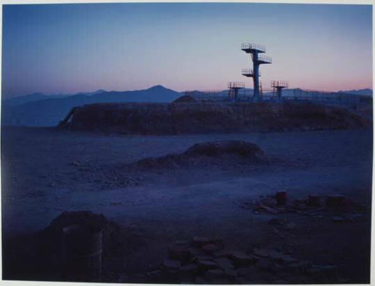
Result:
{"type": "Polygon", "coordinates": [[[260,67],[292,88],[372,88],[372,6],[97,3],[3,6],[2,96],[224,89],[266,46],[260,67]]]}

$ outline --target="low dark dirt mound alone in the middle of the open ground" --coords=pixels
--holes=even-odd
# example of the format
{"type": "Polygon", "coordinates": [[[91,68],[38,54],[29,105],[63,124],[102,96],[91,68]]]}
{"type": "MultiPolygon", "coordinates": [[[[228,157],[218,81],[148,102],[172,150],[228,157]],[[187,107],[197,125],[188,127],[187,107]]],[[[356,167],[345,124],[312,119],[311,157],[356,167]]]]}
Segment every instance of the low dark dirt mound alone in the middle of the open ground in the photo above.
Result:
{"type": "Polygon", "coordinates": [[[140,168],[175,168],[184,166],[211,166],[213,164],[268,164],[265,152],[256,144],[245,141],[213,141],[197,143],[181,154],[137,161],[140,168]]]}

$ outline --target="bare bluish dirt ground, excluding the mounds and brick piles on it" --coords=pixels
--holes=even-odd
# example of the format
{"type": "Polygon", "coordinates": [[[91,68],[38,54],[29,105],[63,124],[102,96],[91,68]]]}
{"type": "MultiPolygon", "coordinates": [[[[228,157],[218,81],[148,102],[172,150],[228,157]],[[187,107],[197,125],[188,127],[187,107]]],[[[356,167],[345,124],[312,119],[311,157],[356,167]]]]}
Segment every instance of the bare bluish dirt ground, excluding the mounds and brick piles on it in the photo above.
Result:
{"type": "MultiPolygon", "coordinates": [[[[284,189],[290,200],[342,194],[369,206],[371,184],[372,129],[172,136],[1,130],[3,239],[42,230],[64,211],[89,210],[144,242],[126,256],[124,273],[163,260],[176,239],[220,235],[228,248],[271,247],[334,264],[344,283],[369,283],[369,212],[361,221],[337,223],[331,214],[256,214],[239,202],[284,189]],[[147,170],[133,165],[223,139],[255,143],[271,164],[147,170]],[[268,223],[273,218],[294,227],[275,228],[268,223]]],[[[120,274],[108,280],[117,281],[120,274]]]]}

